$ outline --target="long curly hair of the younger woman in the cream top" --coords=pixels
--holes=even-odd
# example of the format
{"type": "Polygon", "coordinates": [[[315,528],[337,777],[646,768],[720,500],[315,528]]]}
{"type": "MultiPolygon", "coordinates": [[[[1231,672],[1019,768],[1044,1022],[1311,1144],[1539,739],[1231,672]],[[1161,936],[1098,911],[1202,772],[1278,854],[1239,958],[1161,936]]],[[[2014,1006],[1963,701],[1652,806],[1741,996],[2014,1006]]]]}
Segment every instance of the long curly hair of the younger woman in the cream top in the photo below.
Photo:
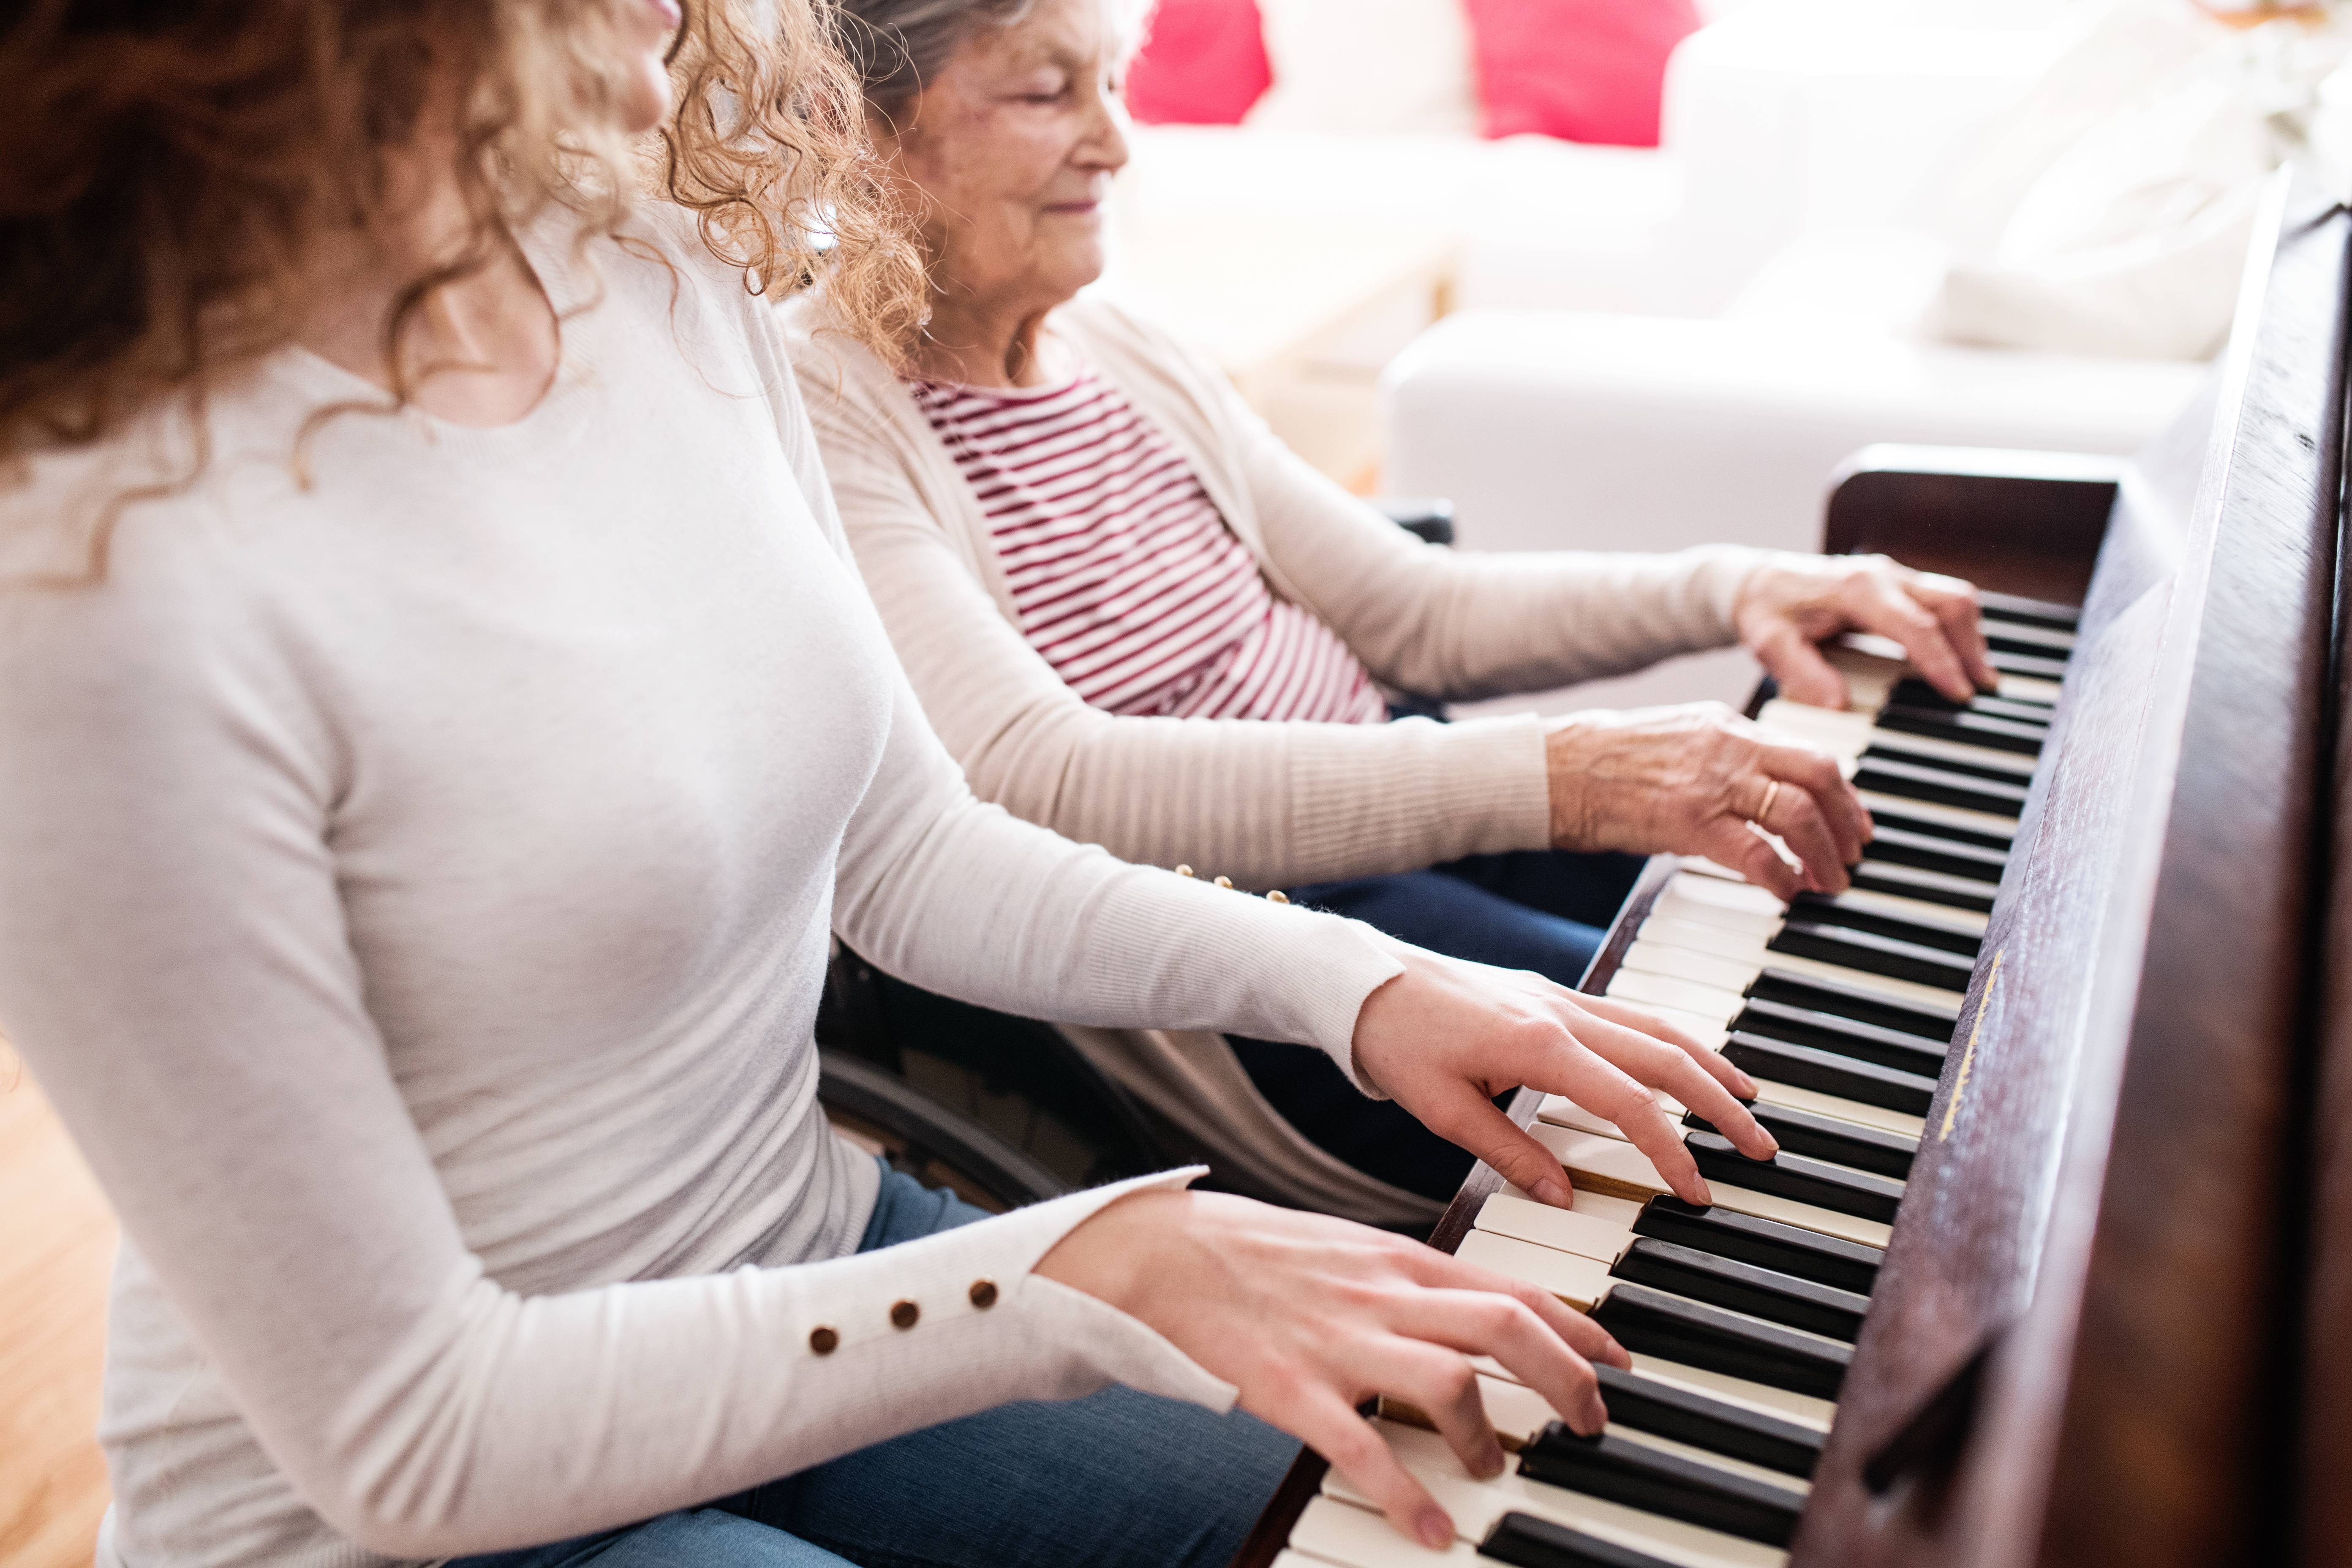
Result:
{"type": "MultiPolygon", "coordinates": [[[[463,249],[407,282],[383,343],[506,235],[569,212],[581,244],[635,200],[696,214],[746,287],[823,277],[894,355],[922,263],[866,143],[835,0],[687,0],[659,139],[621,134],[633,0],[26,0],[0,24],[0,470],[87,447],[282,348],[320,303],[322,237],[390,216],[388,158],[454,106],[463,249]]],[[[433,127],[449,129],[449,127],[433,127]]],[[[400,407],[412,395],[402,355],[400,407]]],[[[202,428],[202,418],[193,421],[202,428]]],[[[120,496],[113,517],[202,473],[120,496]]],[[[0,484],[9,473],[0,473],[0,484]]]]}

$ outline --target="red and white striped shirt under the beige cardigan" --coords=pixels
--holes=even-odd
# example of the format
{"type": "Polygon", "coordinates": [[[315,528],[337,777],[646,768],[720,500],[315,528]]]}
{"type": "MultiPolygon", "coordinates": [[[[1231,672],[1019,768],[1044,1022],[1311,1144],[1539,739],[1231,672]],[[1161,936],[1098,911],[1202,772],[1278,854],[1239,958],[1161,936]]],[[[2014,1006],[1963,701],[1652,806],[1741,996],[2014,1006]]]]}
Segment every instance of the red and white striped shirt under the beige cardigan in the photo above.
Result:
{"type": "Polygon", "coordinates": [[[1277,599],[1200,475],[1124,395],[913,383],[988,515],[1021,632],[1120,715],[1371,724],[1348,644],[1277,599]]]}

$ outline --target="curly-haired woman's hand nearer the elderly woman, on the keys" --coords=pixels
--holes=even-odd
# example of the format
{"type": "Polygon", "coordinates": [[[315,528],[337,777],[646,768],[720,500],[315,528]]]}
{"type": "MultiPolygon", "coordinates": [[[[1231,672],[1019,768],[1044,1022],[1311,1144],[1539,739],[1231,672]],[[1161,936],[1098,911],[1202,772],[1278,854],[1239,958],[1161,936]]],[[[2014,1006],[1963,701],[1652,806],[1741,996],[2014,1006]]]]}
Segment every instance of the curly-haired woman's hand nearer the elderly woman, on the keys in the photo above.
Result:
{"type": "Polygon", "coordinates": [[[1682,1131],[1653,1088],[1712,1121],[1750,1159],[1780,1145],[1740,1105],[1748,1074],[1642,1009],[1562,990],[1524,969],[1491,969],[1397,945],[1404,973],[1355,1016],[1355,1070],[1531,1197],[1566,1206],[1569,1175],[1494,1098],[1522,1084],[1616,1121],[1691,1204],[1710,1201],[1682,1131]],[[1733,1098],[1738,1095],[1738,1098],[1733,1098]]]}

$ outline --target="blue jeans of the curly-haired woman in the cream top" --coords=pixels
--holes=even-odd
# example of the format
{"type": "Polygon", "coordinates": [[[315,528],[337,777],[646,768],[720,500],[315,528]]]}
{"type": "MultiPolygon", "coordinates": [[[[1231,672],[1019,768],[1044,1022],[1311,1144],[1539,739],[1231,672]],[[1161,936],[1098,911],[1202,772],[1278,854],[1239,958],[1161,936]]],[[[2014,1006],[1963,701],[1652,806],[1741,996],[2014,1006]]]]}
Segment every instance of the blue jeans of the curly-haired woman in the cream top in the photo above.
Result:
{"type": "MultiPolygon", "coordinates": [[[[983,1220],[889,1168],[861,1253],[983,1220]]],[[[449,1568],[1225,1568],[1298,1443],[1110,1387],[908,1432],[797,1476],[449,1568]]]]}

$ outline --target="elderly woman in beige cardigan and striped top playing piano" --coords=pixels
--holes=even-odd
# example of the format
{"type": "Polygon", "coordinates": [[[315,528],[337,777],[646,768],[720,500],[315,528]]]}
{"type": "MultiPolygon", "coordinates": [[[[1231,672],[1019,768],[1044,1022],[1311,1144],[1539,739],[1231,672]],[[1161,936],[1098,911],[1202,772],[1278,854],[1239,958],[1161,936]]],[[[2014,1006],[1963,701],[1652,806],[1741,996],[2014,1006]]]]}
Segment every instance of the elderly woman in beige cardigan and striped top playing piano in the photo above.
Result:
{"type": "MultiPolygon", "coordinates": [[[[891,364],[809,296],[795,360],[858,567],[983,797],[1564,985],[1630,863],[1555,851],[1705,853],[1780,893],[1846,884],[1867,835],[1851,790],[1722,708],[1390,722],[1383,686],[1529,691],[1738,639],[1792,696],[1839,703],[1813,644],[1867,628],[1962,696],[1992,679],[1964,583],[1738,548],[1416,543],[1289,454],[1216,369],[1082,294],[1127,160],[1117,0],[844,9],[873,134],[920,214],[929,317],[891,364]]],[[[1223,1100],[1225,1124],[1263,1095],[1277,1138],[1296,1128],[1392,1187],[1458,1185],[1461,1152],[1395,1107],[1296,1051],[1232,1044],[1247,1084],[1230,1060],[1204,1067],[1202,1041],[1108,1060],[1145,1093],[1223,1100]]],[[[1287,1171],[1336,1190],[1308,1161],[1287,1171]]]]}

